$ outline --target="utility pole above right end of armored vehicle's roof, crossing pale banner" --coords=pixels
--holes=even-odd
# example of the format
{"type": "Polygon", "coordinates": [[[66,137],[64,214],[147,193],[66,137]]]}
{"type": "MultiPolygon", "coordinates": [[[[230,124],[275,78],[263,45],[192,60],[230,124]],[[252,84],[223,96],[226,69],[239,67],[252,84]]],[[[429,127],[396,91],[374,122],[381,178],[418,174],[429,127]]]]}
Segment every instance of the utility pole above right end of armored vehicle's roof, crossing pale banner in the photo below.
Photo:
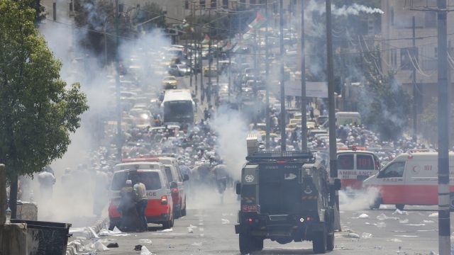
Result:
{"type": "Polygon", "coordinates": [[[301,3],[301,149],[307,149],[306,57],[304,56],[304,0],[301,3]]]}

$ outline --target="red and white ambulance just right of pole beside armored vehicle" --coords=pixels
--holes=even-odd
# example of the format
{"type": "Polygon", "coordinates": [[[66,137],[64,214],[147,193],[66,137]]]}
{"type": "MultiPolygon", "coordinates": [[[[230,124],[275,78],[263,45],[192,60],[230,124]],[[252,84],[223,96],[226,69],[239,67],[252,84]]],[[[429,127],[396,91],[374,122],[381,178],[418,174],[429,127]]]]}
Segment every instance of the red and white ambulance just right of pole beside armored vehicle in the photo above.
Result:
{"type": "Polygon", "coordinates": [[[341,179],[343,190],[362,188],[362,181],[377,174],[380,160],[365,147],[338,148],[338,179],[341,179]]]}

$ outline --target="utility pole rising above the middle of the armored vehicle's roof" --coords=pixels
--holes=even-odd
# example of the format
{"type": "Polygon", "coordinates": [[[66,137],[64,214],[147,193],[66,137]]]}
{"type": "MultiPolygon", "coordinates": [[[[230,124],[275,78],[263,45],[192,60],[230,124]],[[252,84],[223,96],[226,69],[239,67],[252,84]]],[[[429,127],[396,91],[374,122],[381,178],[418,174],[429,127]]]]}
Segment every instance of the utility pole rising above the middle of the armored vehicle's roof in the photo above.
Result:
{"type": "Polygon", "coordinates": [[[280,118],[280,130],[281,130],[281,151],[286,150],[287,135],[285,134],[285,74],[284,74],[284,3],[282,0],[279,1],[279,46],[280,46],[280,59],[281,59],[281,118],[280,118]]]}

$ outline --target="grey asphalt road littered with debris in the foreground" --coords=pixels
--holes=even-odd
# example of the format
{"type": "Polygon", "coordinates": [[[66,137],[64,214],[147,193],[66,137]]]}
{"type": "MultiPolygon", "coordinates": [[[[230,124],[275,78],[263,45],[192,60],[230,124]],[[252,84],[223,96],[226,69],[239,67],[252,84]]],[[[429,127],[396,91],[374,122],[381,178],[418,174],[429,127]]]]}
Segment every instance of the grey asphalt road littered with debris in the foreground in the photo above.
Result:
{"type": "MultiPolygon", "coordinates": [[[[172,231],[162,231],[160,225],[149,225],[149,232],[103,237],[118,242],[119,247],[100,254],[140,254],[133,251],[135,245],[143,244],[140,239],[153,242],[145,244],[153,254],[239,254],[234,229],[239,204],[233,191],[226,193],[222,204],[216,194],[193,198],[188,201],[188,207],[187,216],[175,220],[172,231]]],[[[358,209],[360,205],[355,201],[341,205],[343,232],[336,232],[336,247],[331,254],[430,254],[438,250],[438,218],[429,216],[436,212],[433,207],[409,207],[402,214],[392,205],[382,206],[380,210],[349,210],[351,208],[358,209]],[[367,238],[365,233],[372,236],[367,238]],[[355,238],[355,234],[360,238],[355,238]]],[[[281,245],[265,240],[263,251],[254,254],[313,252],[311,242],[281,245]]]]}

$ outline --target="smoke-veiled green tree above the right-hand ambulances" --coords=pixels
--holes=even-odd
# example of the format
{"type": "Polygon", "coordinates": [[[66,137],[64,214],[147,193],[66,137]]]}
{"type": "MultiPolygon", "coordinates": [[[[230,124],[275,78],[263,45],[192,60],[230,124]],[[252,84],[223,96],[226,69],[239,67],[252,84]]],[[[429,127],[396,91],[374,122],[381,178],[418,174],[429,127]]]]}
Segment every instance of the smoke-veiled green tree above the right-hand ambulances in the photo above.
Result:
{"type": "Polygon", "coordinates": [[[360,98],[360,111],[366,125],[380,132],[384,139],[395,139],[408,128],[411,96],[394,73],[382,73],[379,60],[379,51],[365,54],[367,82],[360,98]]]}

